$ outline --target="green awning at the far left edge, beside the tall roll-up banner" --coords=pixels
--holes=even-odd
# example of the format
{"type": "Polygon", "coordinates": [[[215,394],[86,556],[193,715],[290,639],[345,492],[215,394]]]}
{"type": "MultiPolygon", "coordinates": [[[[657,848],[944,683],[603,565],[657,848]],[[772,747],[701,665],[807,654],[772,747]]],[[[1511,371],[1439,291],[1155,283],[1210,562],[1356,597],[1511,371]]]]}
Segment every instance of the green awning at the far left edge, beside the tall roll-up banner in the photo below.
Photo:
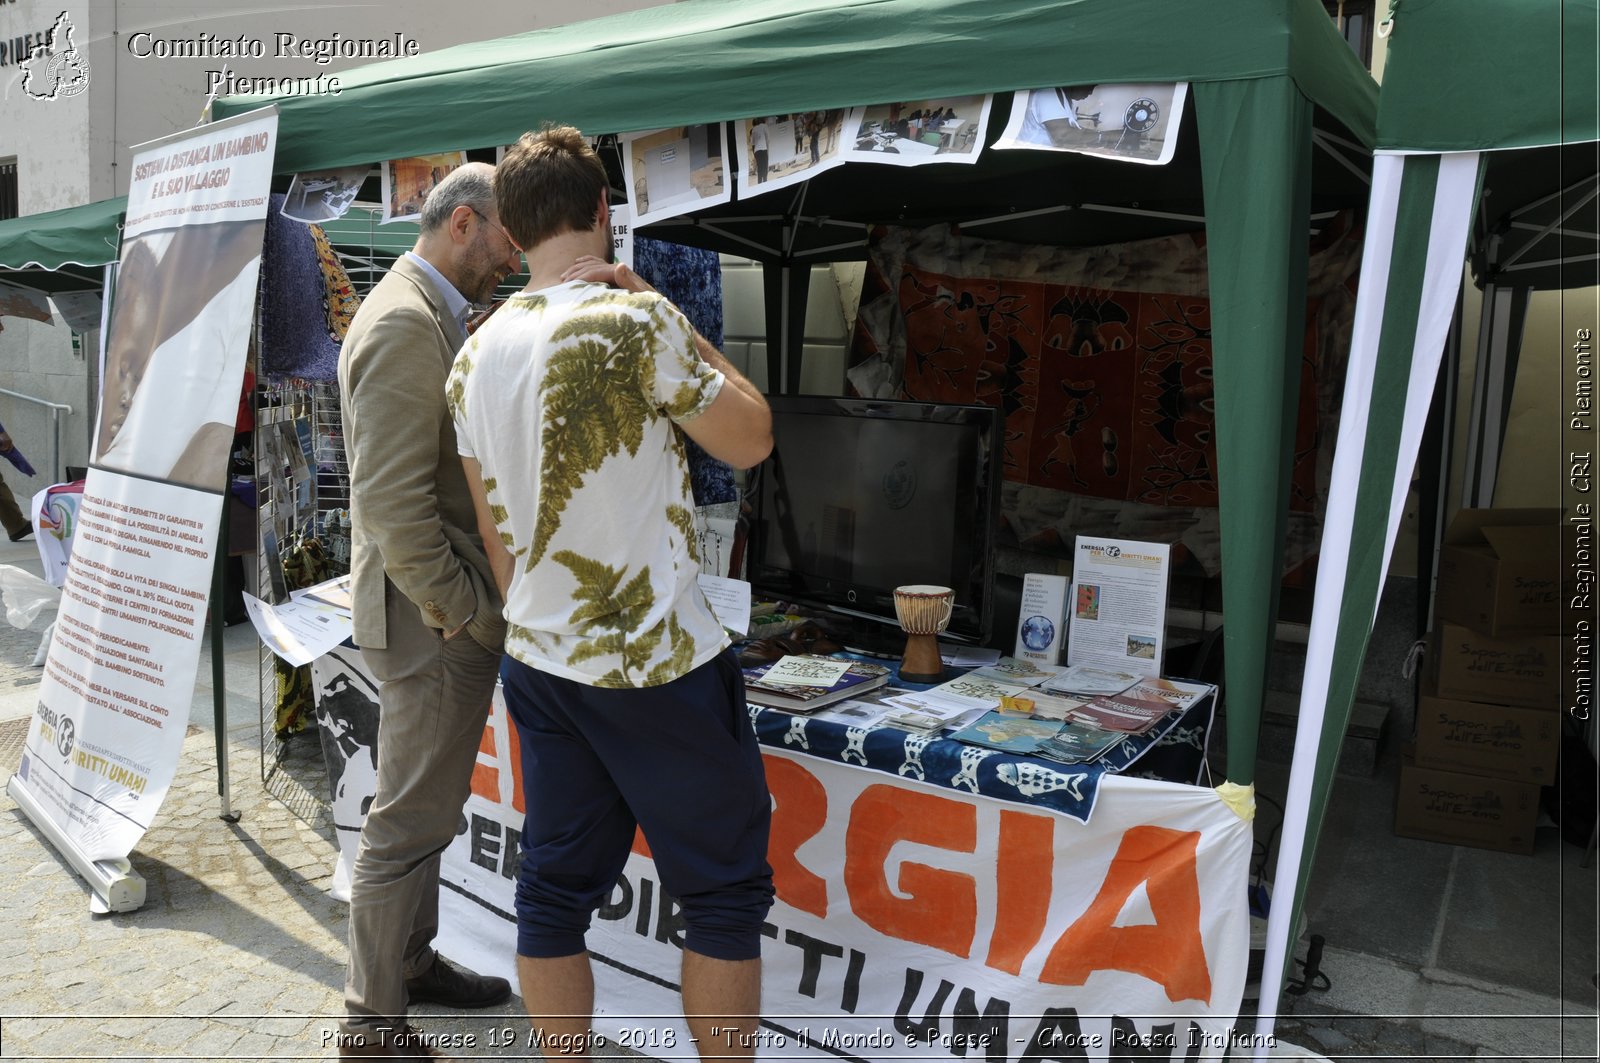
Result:
{"type": "Polygon", "coordinates": [[[38,291],[101,287],[117,261],[126,197],[0,221],[0,280],[38,291]]]}

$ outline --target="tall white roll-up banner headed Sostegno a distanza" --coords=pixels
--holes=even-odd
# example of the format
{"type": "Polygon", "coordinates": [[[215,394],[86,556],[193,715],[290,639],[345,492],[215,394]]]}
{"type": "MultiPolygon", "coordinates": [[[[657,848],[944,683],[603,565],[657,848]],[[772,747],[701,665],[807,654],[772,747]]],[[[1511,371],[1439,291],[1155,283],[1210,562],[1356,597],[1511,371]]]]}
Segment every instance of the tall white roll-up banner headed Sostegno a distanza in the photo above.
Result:
{"type": "Polygon", "coordinates": [[[182,748],[277,139],[272,109],[133,155],[94,458],[13,786],[120,860],[182,748]]]}

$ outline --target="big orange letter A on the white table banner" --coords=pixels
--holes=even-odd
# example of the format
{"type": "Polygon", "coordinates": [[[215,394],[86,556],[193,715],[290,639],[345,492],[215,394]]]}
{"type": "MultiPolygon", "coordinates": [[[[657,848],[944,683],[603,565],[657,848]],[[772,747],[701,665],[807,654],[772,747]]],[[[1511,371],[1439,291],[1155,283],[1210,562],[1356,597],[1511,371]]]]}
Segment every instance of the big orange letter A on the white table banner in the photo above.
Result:
{"type": "Polygon", "coordinates": [[[1211,999],[1211,972],[1200,941],[1197,831],[1136,826],[1122,836],[1099,893],[1067,927],[1038,980],[1082,986],[1096,970],[1125,970],[1160,983],[1166,999],[1211,999]],[[1144,885],[1154,925],[1112,925],[1128,898],[1144,885]]]}

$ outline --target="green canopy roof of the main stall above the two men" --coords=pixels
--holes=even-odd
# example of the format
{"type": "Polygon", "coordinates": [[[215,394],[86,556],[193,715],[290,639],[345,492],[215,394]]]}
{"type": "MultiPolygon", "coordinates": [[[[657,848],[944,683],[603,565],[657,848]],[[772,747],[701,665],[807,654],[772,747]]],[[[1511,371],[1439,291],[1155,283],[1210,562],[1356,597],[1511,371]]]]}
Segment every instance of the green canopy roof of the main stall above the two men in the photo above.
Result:
{"type": "Polygon", "coordinates": [[[280,171],[493,147],[542,122],[624,133],[1096,82],[1290,77],[1363,144],[1376,85],[1309,0],[688,0],[338,74],[274,102],[280,171]]]}

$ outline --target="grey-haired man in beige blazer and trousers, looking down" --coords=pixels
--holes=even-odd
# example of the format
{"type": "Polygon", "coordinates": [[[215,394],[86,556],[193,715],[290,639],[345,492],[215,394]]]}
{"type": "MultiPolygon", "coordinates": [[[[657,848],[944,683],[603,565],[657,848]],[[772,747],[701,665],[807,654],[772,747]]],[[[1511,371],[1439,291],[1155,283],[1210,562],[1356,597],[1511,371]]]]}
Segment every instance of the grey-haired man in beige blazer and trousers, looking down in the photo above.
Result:
{"type": "Polygon", "coordinates": [[[341,1058],[438,1055],[406,1023],[408,1004],[491,1007],[510,996],[504,978],[446,964],[430,945],[440,855],[467,799],[506,634],[445,408],[470,303],[522,267],[496,221],[493,178],[493,166],[469,163],[434,189],[416,247],[373,288],[339,352],[354,637],[381,684],[341,1058]]]}

